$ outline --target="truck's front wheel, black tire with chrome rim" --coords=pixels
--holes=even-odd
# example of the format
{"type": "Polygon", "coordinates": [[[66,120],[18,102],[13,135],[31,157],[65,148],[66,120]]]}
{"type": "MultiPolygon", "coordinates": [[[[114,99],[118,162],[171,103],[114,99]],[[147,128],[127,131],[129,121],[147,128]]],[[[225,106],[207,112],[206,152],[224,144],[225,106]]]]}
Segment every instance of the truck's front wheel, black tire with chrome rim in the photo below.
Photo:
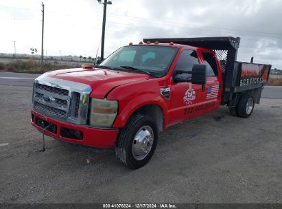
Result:
{"type": "Polygon", "coordinates": [[[119,131],[115,153],[123,164],[137,169],[151,159],[157,140],[156,122],[148,115],[133,115],[119,131]]]}

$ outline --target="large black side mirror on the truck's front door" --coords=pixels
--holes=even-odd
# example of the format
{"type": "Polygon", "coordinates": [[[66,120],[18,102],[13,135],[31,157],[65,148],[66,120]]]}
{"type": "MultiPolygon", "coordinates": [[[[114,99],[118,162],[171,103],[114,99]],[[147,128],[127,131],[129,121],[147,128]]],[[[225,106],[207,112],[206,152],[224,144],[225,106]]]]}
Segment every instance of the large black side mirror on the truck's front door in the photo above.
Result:
{"type": "Polygon", "coordinates": [[[193,65],[192,71],[176,69],[174,70],[173,82],[189,82],[193,84],[205,85],[207,83],[207,66],[193,65]],[[188,76],[188,74],[191,74],[191,76],[188,76]]]}

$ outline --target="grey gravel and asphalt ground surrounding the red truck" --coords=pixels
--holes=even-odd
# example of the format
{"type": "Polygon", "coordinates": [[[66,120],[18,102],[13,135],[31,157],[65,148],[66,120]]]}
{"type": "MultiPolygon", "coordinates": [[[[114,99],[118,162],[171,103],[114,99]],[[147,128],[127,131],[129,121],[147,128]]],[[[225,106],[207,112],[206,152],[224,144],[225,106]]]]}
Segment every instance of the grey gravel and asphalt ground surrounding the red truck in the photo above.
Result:
{"type": "Polygon", "coordinates": [[[129,170],[113,149],[87,164],[86,151],[47,137],[38,152],[31,80],[0,73],[10,76],[24,81],[0,80],[0,203],[282,203],[281,99],[261,99],[247,119],[220,107],[172,126],[150,163],[129,170]]]}

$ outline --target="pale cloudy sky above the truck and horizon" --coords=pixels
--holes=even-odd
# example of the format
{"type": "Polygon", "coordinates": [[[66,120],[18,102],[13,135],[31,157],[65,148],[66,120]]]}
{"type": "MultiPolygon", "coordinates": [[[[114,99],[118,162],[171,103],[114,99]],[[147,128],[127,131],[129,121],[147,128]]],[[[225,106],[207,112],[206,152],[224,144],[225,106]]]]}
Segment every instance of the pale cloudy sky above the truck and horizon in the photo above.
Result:
{"type": "MultiPolygon", "coordinates": [[[[104,0],[102,0],[104,1],[104,0]]],[[[42,1],[0,0],[0,53],[41,50],[42,1]]],[[[238,61],[282,69],[281,0],[112,0],[105,56],[144,38],[241,37],[238,61]]],[[[95,57],[103,5],[96,0],[45,0],[44,50],[48,56],[95,57]]],[[[100,51],[98,51],[99,56],[100,51]]]]}

